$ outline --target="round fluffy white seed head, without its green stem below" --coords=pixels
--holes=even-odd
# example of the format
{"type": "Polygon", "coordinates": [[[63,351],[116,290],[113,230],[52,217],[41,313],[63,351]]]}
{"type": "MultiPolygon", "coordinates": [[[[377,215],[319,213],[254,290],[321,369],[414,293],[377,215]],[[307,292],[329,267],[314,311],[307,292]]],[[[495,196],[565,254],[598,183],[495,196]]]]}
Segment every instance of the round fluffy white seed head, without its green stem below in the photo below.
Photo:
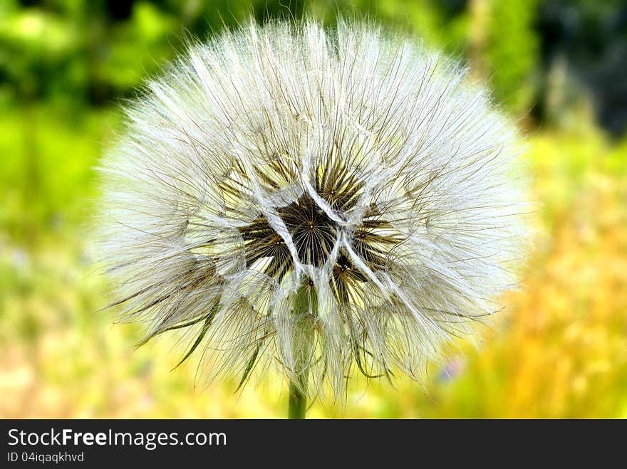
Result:
{"type": "Polygon", "coordinates": [[[251,24],[127,112],[103,161],[115,304],[147,339],[186,329],[209,376],[420,379],[514,283],[514,126],[415,41],[251,24]]]}

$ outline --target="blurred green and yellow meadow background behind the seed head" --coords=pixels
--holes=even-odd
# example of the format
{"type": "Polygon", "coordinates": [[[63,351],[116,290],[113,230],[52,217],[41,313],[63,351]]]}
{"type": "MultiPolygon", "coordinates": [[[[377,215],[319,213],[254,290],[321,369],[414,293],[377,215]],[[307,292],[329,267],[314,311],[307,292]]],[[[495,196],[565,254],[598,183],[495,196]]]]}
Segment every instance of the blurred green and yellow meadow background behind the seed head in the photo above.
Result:
{"type": "Polygon", "coordinates": [[[284,382],[206,386],[184,344],[98,312],[94,167],[120,100],[253,15],[403,28],[472,66],[529,140],[537,241],[509,309],[425,384],[356,376],[309,417],[627,417],[627,6],[622,1],[3,1],[0,416],[273,418],[284,382]],[[305,3],[307,4],[305,6],[305,3]]]}

